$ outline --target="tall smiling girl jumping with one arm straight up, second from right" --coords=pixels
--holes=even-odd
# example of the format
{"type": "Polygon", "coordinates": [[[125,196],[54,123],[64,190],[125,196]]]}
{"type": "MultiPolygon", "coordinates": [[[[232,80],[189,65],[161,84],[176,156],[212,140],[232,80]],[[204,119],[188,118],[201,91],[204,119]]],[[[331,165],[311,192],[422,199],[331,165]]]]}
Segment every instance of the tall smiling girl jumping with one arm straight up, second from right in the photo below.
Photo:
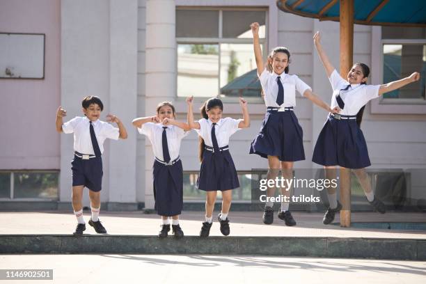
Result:
{"type": "MultiPolygon", "coordinates": [[[[260,133],[251,143],[250,154],[258,154],[268,159],[269,171],[267,178],[274,180],[278,172],[283,173],[283,178],[292,179],[294,161],[305,159],[303,150],[303,131],[299,125],[293,108],[296,106],[297,90],[314,104],[326,111],[329,105],[313,94],[311,88],[296,75],[289,75],[290,52],[285,47],[276,47],[268,56],[267,68],[262,59],[262,51],[259,44],[259,24],[250,25],[253,31],[253,47],[258,68],[258,76],[262,85],[264,100],[267,106],[265,120],[262,123],[260,133]]],[[[282,188],[283,196],[290,198],[290,188],[282,188]]],[[[275,188],[267,190],[267,196],[274,196],[275,188]]],[[[288,199],[287,199],[288,200],[288,199]]],[[[285,225],[294,226],[291,212],[288,210],[290,202],[282,202],[278,218],[285,221],[285,225]]],[[[263,223],[271,224],[274,221],[274,203],[265,204],[263,223]]]]}

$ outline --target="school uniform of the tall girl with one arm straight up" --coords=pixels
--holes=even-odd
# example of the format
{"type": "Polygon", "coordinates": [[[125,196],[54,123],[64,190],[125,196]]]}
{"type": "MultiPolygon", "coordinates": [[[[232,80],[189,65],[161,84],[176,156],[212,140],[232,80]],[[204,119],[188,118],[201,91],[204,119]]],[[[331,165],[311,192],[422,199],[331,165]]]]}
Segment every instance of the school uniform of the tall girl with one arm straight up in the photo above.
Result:
{"type": "Polygon", "coordinates": [[[260,133],[251,143],[250,154],[263,158],[277,156],[280,161],[304,160],[303,130],[293,110],[296,107],[296,90],[303,95],[311,88],[297,75],[278,75],[266,68],[259,79],[267,113],[260,133]]]}

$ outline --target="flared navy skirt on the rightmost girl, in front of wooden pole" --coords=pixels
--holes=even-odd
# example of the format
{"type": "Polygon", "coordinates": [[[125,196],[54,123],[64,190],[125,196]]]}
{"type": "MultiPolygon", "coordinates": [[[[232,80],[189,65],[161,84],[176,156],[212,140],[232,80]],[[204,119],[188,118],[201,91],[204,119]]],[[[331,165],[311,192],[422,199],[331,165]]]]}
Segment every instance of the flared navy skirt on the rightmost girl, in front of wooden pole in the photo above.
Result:
{"type": "Polygon", "coordinates": [[[365,168],[370,166],[367,143],[356,119],[329,116],[319,133],[312,161],[322,166],[365,168]]]}

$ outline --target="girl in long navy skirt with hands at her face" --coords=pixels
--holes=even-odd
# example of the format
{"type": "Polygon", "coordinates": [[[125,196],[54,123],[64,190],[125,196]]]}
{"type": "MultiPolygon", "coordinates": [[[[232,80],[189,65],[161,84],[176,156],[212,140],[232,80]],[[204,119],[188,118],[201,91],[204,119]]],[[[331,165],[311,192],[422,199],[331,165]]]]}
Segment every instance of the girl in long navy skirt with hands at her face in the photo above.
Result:
{"type": "Polygon", "coordinates": [[[163,221],[159,237],[167,237],[170,231],[169,216],[172,217],[173,235],[183,237],[179,226],[179,215],[183,206],[182,161],[180,161],[180,141],[189,133],[189,125],[175,120],[175,107],[171,102],[161,102],[157,115],[135,118],[133,125],[140,134],[150,139],[155,155],[152,166],[154,181],[155,210],[163,221]]]}

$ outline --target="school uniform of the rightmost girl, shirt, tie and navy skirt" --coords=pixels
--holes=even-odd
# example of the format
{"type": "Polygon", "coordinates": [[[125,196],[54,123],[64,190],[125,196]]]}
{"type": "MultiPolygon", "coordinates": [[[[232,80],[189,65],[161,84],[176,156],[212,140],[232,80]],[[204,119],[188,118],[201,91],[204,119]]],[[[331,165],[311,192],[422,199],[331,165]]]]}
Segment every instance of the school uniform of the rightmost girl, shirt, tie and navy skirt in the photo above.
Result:
{"type": "Polygon", "coordinates": [[[379,85],[349,84],[334,70],[329,78],[333,88],[331,108],[342,111],[329,117],[319,133],[313,162],[322,166],[365,168],[370,166],[367,143],[356,123],[356,114],[370,100],[379,97],[379,85]]]}

